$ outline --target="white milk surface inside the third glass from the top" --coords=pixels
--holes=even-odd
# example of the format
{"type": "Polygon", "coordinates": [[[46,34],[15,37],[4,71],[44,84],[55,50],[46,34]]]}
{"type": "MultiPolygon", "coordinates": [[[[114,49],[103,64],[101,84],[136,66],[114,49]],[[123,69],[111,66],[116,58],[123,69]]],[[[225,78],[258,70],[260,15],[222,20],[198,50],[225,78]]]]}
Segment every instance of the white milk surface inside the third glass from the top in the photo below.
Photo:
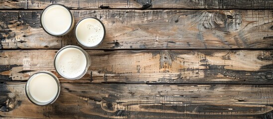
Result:
{"type": "Polygon", "coordinates": [[[64,77],[76,78],[84,73],[86,56],[77,48],[66,48],[59,52],[55,60],[56,70],[64,77]]]}

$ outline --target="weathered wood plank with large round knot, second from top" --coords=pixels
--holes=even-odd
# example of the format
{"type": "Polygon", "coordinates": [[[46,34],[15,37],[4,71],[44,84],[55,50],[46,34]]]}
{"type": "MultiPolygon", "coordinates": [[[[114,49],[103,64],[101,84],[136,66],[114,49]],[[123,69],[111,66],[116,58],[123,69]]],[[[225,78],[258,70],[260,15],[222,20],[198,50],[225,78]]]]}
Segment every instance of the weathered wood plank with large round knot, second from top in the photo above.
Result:
{"type": "MultiPolygon", "coordinates": [[[[96,49],[273,49],[273,10],[81,10],[102,20],[105,40],[96,49]]],[[[60,49],[78,45],[74,33],[48,35],[41,11],[0,11],[3,49],[60,49]]]]}

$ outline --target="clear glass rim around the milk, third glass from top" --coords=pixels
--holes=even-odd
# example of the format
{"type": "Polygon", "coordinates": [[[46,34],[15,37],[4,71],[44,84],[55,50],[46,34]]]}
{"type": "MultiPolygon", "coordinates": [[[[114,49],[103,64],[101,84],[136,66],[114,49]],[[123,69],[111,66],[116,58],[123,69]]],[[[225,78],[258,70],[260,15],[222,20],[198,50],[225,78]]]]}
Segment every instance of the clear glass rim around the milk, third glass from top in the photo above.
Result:
{"type": "Polygon", "coordinates": [[[81,47],[78,47],[78,46],[72,46],[72,45],[70,45],[70,46],[65,46],[65,47],[63,47],[62,49],[60,49],[60,50],[56,53],[56,55],[55,55],[55,57],[54,57],[54,68],[55,68],[56,72],[57,72],[61,77],[65,78],[65,79],[69,79],[69,80],[76,80],[76,79],[82,78],[82,77],[86,74],[86,72],[88,71],[88,68],[89,68],[90,64],[91,64],[90,56],[88,55],[88,53],[87,53],[84,49],[82,49],[81,47]],[[86,64],[85,71],[83,71],[83,73],[82,73],[81,75],[79,75],[79,76],[77,76],[77,77],[74,77],[74,78],[69,78],[69,77],[66,77],[66,76],[62,75],[61,73],[59,73],[59,71],[58,71],[57,68],[56,68],[56,58],[57,58],[58,54],[59,54],[61,51],[63,51],[64,49],[66,49],[66,48],[76,48],[76,49],[80,50],[81,52],[83,52],[83,54],[85,55],[86,60],[87,60],[87,64],[86,64]]]}

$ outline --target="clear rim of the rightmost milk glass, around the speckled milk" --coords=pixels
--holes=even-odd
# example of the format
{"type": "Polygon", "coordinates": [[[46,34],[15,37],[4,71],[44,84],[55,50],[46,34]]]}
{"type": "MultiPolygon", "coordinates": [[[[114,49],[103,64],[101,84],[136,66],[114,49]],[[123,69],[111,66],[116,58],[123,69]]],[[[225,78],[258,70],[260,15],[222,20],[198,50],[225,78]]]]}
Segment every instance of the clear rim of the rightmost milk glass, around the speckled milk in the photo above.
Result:
{"type": "Polygon", "coordinates": [[[80,21],[78,21],[78,23],[76,24],[75,29],[74,29],[74,35],[75,35],[76,41],[77,41],[81,46],[83,46],[83,47],[85,47],[85,48],[95,48],[95,47],[97,47],[98,45],[100,45],[100,44],[102,43],[102,41],[104,40],[104,38],[105,38],[105,34],[106,34],[106,30],[105,30],[105,26],[104,26],[104,24],[102,23],[102,21],[100,21],[100,20],[99,20],[98,18],[96,18],[96,17],[91,17],[91,16],[90,16],[90,17],[82,18],[80,21]],[[87,19],[87,18],[92,18],[92,19],[97,20],[97,21],[102,25],[102,27],[103,27],[103,32],[104,32],[101,41],[100,41],[97,45],[92,46],[92,47],[88,47],[88,46],[85,46],[85,45],[81,44],[81,43],[79,42],[79,39],[78,39],[77,36],[76,36],[76,29],[77,29],[77,26],[79,25],[79,23],[80,23],[82,20],[87,19]]]}

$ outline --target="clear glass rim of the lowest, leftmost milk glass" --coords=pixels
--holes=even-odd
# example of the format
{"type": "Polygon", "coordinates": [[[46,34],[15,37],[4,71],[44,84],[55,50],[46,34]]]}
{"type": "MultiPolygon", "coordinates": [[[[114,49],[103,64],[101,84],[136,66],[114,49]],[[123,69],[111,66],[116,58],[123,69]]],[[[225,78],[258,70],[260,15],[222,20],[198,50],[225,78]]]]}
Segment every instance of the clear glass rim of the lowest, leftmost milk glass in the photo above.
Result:
{"type": "MultiPolygon", "coordinates": [[[[32,79],[31,79],[31,80],[32,80],[32,79]]],[[[39,72],[36,72],[36,73],[32,74],[31,76],[29,76],[29,78],[28,78],[28,80],[27,80],[27,82],[26,82],[26,84],[25,84],[25,94],[26,94],[26,97],[28,98],[28,100],[29,100],[31,103],[33,103],[33,104],[35,104],[35,105],[38,105],[38,106],[46,106],[46,105],[50,105],[50,104],[54,103],[54,102],[58,99],[58,97],[59,97],[59,95],[60,95],[60,91],[61,91],[61,84],[60,84],[60,81],[59,81],[58,77],[57,77],[54,73],[52,73],[52,72],[50,72],[50,71],[39,71],[39,72]],[[57,83],[57,86],[58,86],[57,95],[56,95],[51,101],[48,101],[48,102],[45,102],[45,103],[39,102],[39,101],[35,100],[35,99],[31,96],[31,94],[30,94],[30,92],[29,92],[29,88],[28,88],[28,85],[29,85],[29,83],[30,83],[30,80],[29,80],[29,79],[31,79],[32,76],[34,76],[34,75],[36,75],[36,74],[39,74],[39,73],[46,73],[46,74],[50,75],[51,77],[53,77],[53,78],[55,79],[56,83],[57,83]],[[33,100],[32,100],[32,99],[33,99],[33,100]]]]}

